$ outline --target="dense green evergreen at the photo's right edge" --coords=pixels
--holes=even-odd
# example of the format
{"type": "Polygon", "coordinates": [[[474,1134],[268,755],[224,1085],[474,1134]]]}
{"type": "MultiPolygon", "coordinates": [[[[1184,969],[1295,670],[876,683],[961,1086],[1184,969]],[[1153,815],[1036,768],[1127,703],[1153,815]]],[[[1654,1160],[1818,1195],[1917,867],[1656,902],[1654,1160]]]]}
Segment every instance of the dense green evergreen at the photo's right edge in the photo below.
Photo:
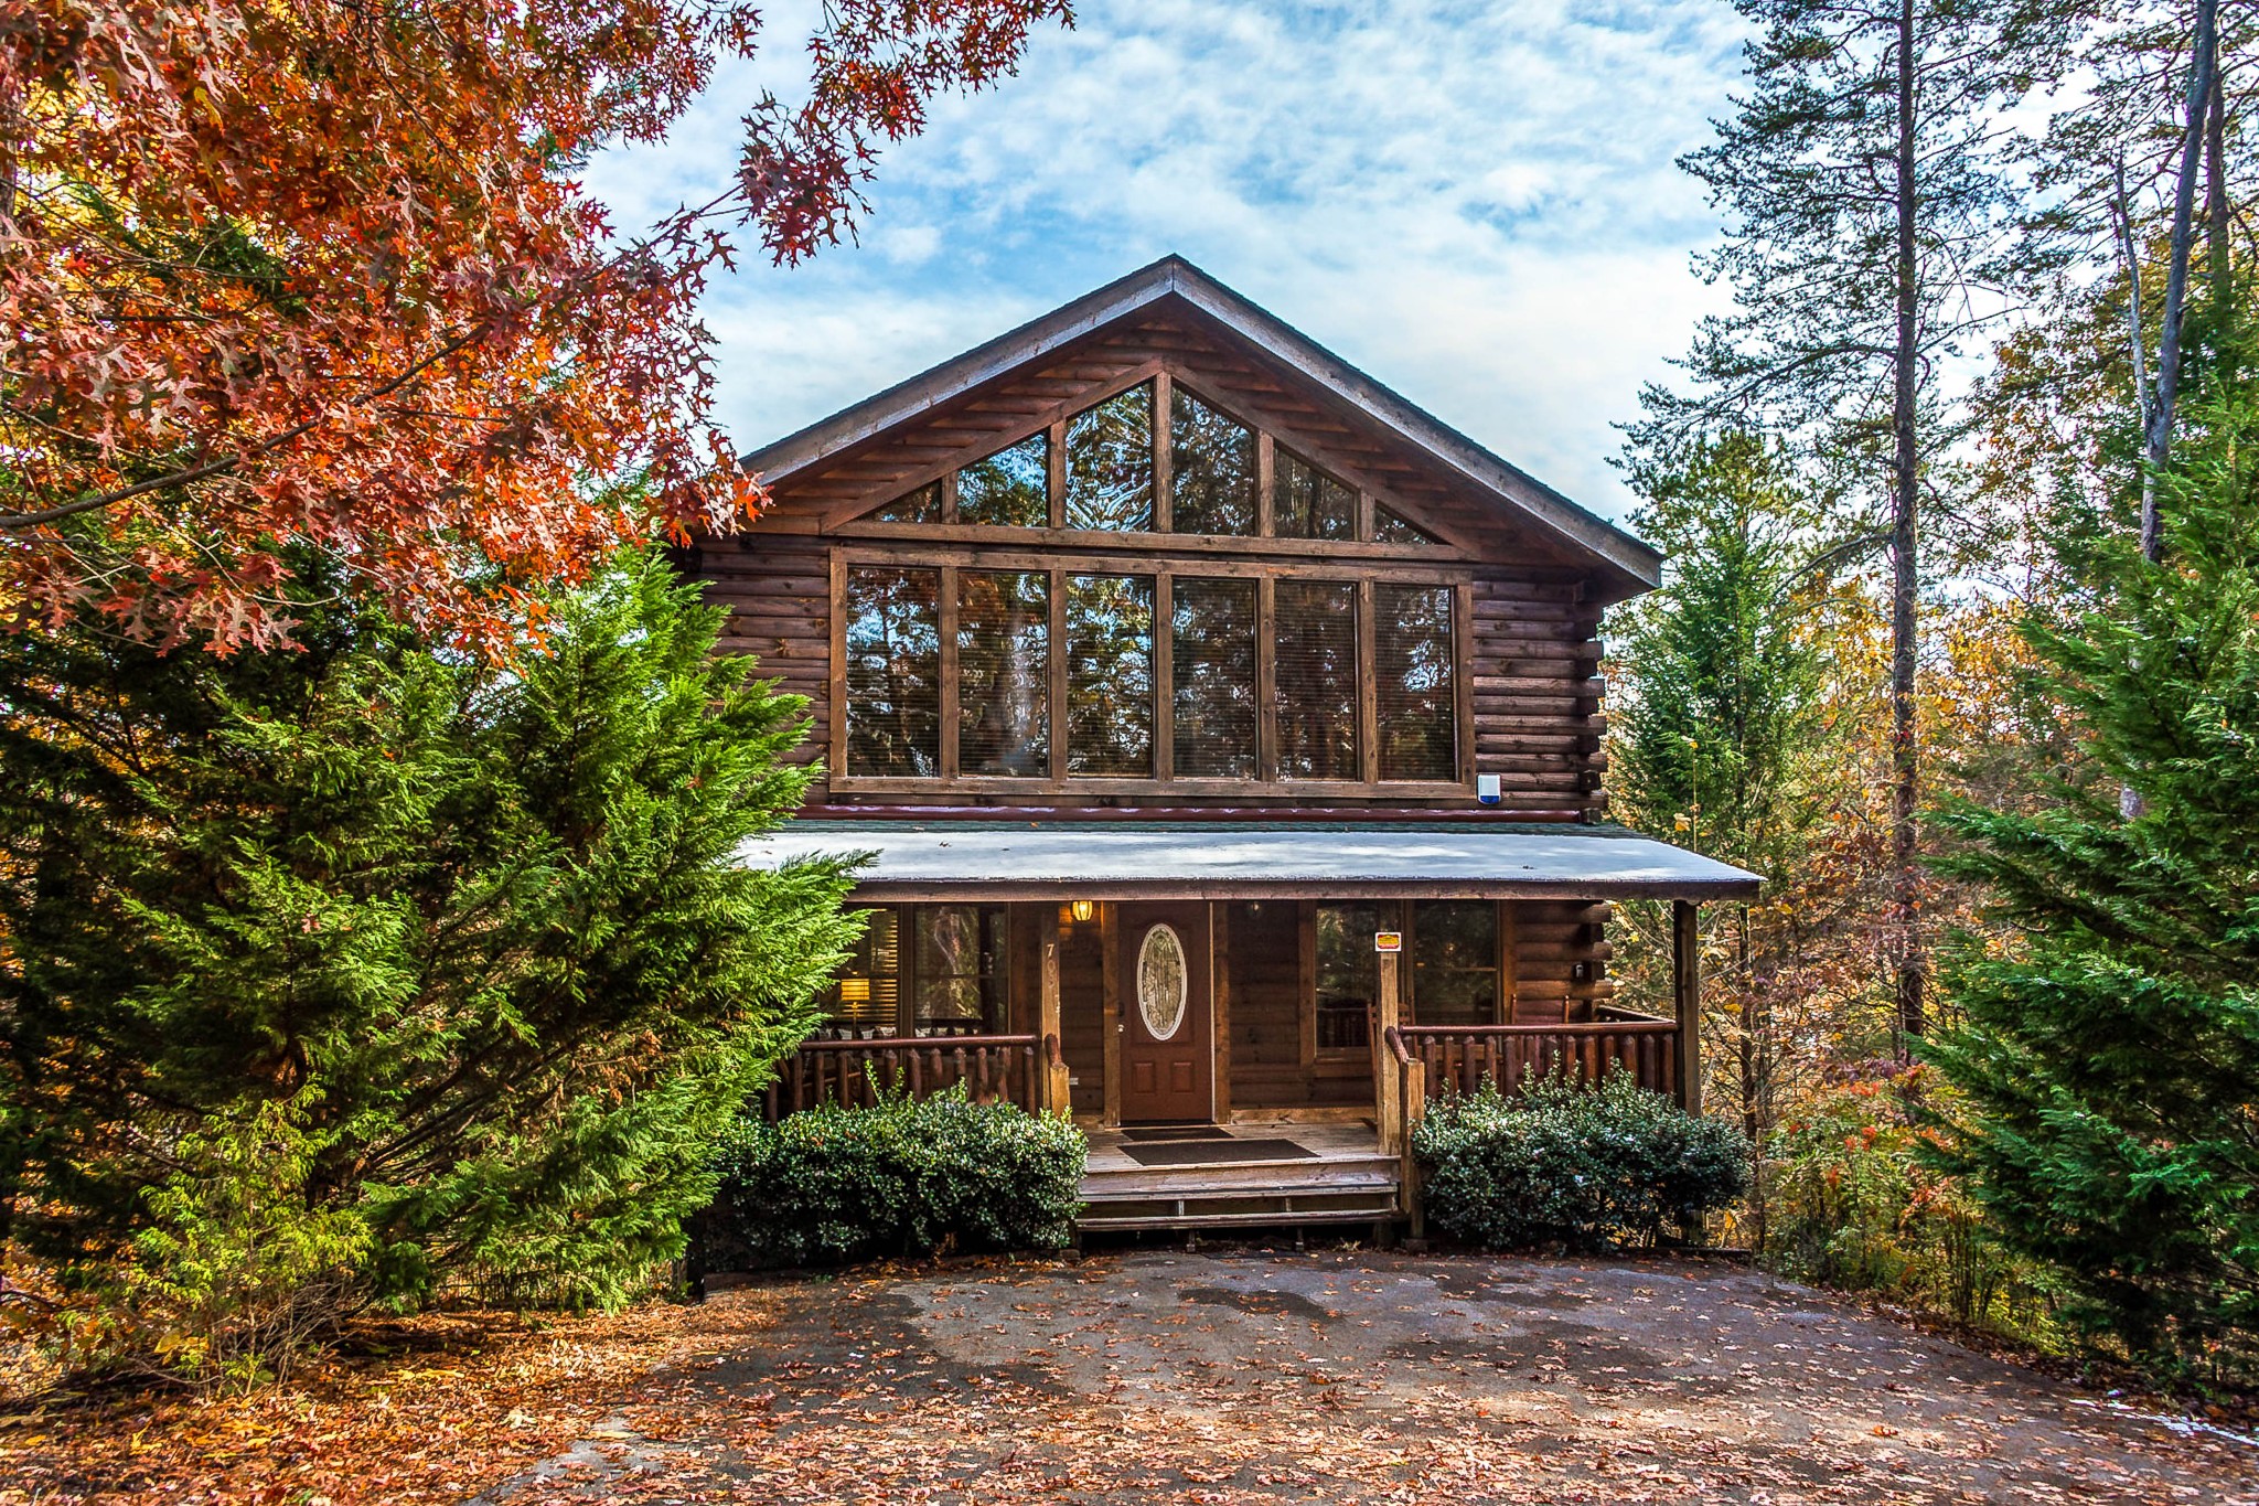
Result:
{"type": "Polygon", "coordinates": [[[1992,1231],[2067,1273],[2132,1355],[2259,1361],[2259,402],[2200,415],[2166,558],[2119,535],[2090,607],[2026,619],[2033,691],[2085,745],[2017,808],[1950,806],[1943,867],[1992,939],[1945,982],[1927,1057],[1961,1100],[1947,1170],[1992,1231]],[[2121,815],[2139,781],[2144,808],[2121,815]]]}

